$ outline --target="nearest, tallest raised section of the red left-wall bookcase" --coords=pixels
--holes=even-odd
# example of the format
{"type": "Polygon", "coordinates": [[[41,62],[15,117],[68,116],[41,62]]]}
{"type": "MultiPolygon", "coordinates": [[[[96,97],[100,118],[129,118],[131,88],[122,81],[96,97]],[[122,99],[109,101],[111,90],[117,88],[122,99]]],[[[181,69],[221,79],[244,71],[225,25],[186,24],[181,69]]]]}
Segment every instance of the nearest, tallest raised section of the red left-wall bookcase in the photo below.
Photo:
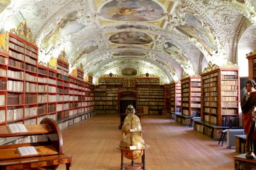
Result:
{"type": "Polygon", "coordinates": [[[6,123],[36,124],[38,48],[8,34],[6,123]]]}

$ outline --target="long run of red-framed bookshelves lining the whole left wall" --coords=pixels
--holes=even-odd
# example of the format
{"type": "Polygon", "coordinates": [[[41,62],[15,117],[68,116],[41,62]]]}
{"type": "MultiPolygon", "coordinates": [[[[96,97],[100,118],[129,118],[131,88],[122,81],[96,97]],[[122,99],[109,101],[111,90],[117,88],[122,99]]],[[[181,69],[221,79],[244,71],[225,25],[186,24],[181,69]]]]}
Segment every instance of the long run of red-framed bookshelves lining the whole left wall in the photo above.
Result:
{"type": "Polygon", "coordinates": [[[11,33],[1,36],[8,48],[0,52],[0,126],[53,118],[65,128],[94,115],[94,85],[84,81],[83,69],[70,76],[61,54],[39,65],[36,46],[11,33]]]}

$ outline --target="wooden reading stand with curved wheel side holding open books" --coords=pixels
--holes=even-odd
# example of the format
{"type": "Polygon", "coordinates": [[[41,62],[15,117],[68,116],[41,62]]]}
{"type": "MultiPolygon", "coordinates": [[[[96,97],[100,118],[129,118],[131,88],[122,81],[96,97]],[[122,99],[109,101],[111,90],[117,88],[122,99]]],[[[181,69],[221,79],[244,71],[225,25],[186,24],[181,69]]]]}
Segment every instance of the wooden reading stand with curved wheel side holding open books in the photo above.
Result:
{"type": "MultiPolygon", "coordinates": [[[[9,133],[7,126],[0,126],[0,138],[30,136],[30,140],[0,145],[0,169],[57,169],[65,164],[71,169],[72,157],[63,154],[61,130],[55,120],[44,118],[40,124],[26,125],[28,132],[9,133]],[[34,146],[38,155],[20,156],[17,148],[34,146]]],[[[20,140],[20,139],[19,139],[20,140]]]]}

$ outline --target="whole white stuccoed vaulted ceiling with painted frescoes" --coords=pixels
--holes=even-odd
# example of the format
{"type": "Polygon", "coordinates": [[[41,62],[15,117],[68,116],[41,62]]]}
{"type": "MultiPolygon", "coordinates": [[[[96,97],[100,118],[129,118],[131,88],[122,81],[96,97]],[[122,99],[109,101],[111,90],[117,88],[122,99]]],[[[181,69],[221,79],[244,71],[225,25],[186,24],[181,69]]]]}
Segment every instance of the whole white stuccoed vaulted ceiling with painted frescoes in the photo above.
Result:
{"type": "Polygon", "coordinates": [[[26,20],[38,61],[65,49],[70,70],[82,63],[94,79],[148,72],[169,83],[235,63],[238,39],[256,43],[255,0],[3,0],[0,11],[1,32],[26,20]]]}

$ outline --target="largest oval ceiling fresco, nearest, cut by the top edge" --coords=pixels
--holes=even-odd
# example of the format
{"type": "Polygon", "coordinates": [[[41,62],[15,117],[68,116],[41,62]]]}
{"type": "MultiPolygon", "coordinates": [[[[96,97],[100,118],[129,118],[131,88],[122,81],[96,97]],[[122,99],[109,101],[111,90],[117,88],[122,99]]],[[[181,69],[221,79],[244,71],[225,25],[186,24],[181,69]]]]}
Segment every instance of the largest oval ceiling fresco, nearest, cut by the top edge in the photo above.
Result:
{"type": "Polygon", "coordinates": [[[115,21],[148,22],[163,17],[164,10],[150,0],[113,0],[100,9],[100,14],[115,21]]]}

